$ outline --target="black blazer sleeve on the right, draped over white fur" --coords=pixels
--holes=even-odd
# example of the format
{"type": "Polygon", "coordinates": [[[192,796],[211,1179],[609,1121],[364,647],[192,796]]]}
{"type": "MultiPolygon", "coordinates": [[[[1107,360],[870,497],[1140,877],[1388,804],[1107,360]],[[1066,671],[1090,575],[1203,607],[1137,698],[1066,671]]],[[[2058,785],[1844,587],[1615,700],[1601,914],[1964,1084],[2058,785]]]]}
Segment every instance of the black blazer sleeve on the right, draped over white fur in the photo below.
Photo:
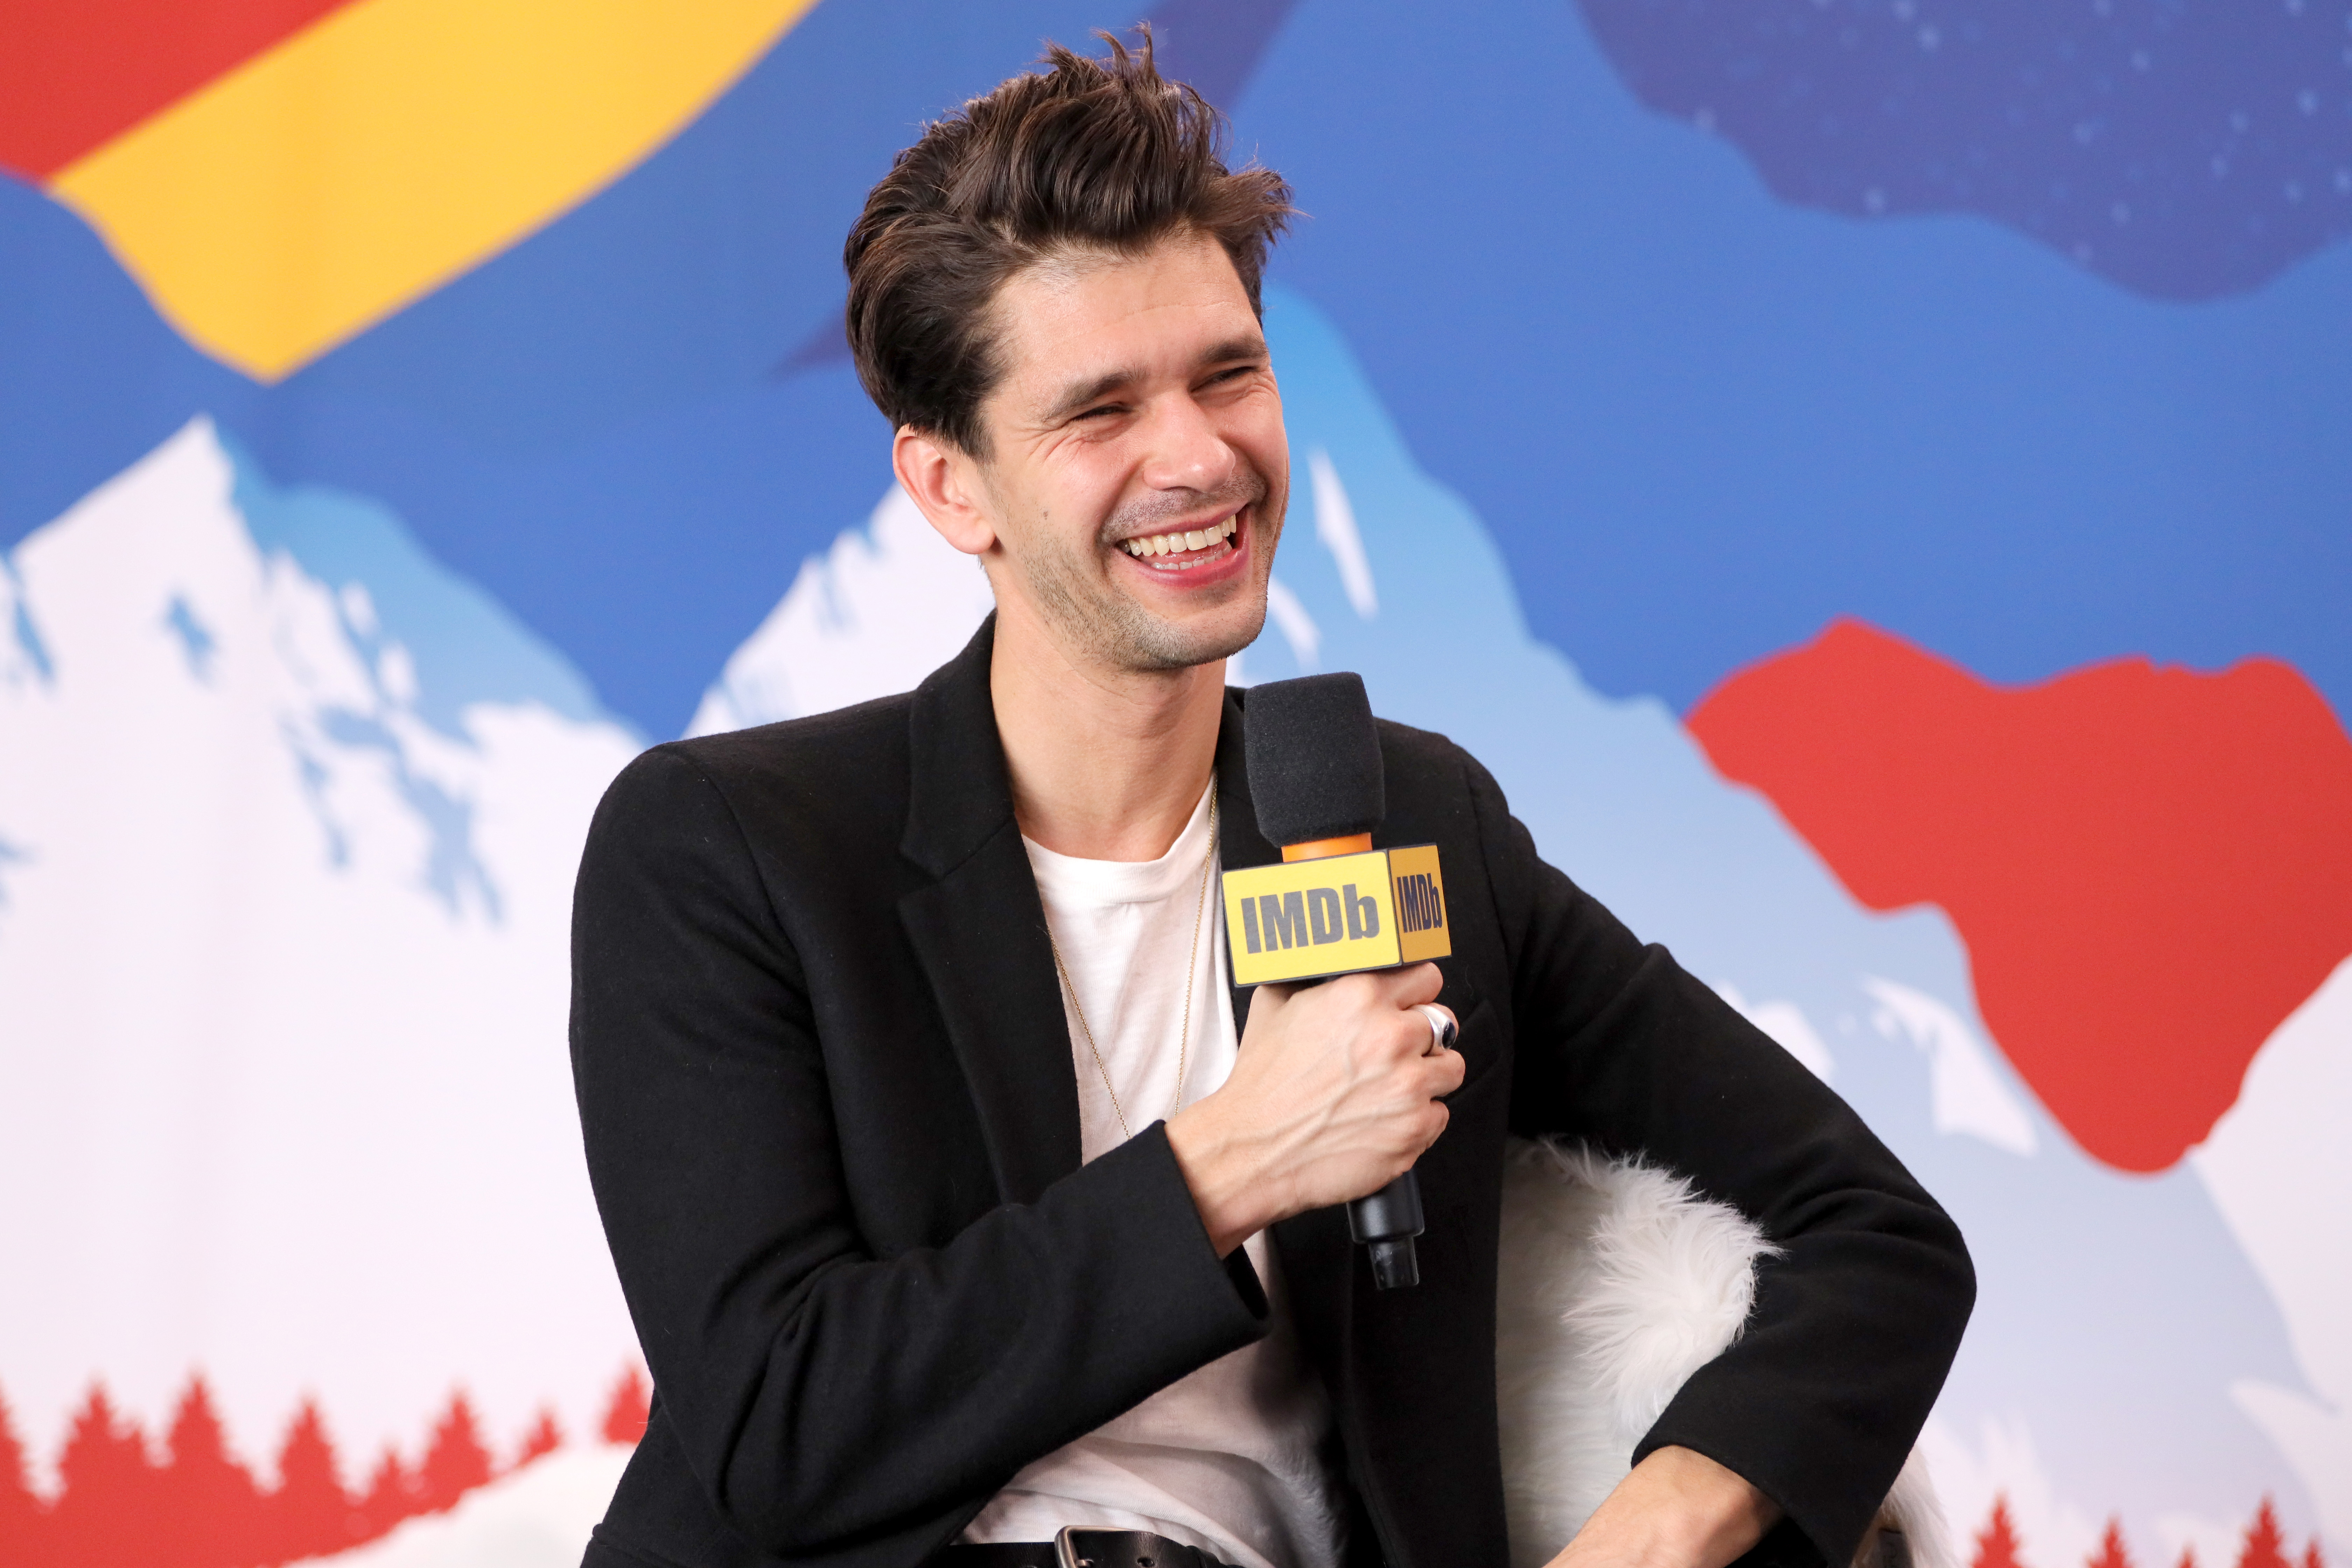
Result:
{"type": "Polygon", "coordinates": [[[1512,1131],[1668,1166],[1780,1248],[1635,1462],[1693,1448],[1846,1563],[1976,1302],[1959,1227],[1820,1079],[1545,865],[1475,762],[1470,788],[1512,959],[1512,1131]]]}

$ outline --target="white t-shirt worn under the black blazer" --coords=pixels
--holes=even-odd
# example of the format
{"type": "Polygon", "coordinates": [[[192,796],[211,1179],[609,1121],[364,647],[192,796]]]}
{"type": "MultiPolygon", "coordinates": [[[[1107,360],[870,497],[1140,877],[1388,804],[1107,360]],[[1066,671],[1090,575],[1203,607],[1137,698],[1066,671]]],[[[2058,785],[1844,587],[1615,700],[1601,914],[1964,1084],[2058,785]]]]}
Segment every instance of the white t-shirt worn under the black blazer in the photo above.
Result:
{"type": "MultiPolygon", "coordinates": [[[[1211,851],[1207,795],[1157,860],[1077,860],[1028,844],[1044,917],[1094,1030],[1089,1048],[1070,987],[1063,987],[1084,1159],[1127,1140],[1120,1110],[1129,1128],[1145,1128],[1216,1091],[1232,1072],[1237,1041],[1211,851]],[[1188,971],[1195,919],[1200,950],[1188,971]],[[1178,1086],[1185,990],[1192,992],[1192,1041],[1181,1053],[1178,1086]],[[1105,1070],[1117,1110],[1103,1086],[1105,1070]]],[[[1338,1563],[1341,1514],[1324,1460],[1331,1403],[1298,1349],[1265,1234],[1242,1246],[1272,1307],[1268,1335],[1028,1465],[962,1540],[1054,1540],[1075,1523],[1152,1530],[1240,1568],[1338,1563]]]]}

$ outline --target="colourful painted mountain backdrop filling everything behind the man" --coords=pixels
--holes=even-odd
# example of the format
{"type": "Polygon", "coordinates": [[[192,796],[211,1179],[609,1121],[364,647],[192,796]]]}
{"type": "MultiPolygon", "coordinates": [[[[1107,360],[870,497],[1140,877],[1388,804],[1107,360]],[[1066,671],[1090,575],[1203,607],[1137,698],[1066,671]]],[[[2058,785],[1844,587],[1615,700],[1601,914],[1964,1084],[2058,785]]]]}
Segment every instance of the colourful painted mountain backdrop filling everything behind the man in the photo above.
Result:
{"type": "MultiPolygon", "coordinates": [[[[574,1561],[564,922],[985,611],[842,233],[1096,0],[0,7],[0,1561],[574,1561]]],[[[1164,0],[1362,670],[1969,1232],[1983,1568],[2352,1556],[2352,5],[1164,0]]]]}

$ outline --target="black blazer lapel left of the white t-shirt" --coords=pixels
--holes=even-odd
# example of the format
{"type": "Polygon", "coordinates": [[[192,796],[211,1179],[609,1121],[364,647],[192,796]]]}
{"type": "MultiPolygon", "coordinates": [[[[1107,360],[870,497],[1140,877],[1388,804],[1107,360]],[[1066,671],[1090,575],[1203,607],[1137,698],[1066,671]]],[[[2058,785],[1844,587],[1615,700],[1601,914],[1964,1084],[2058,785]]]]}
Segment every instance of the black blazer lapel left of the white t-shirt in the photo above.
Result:
{"type": "Polygon", "coordinates": [[[1044,905],[1014,820],[988,696],[995,616],[915,689],[901,853],[934,877],[898,900],[964,1067],[1007,1204],[1080,1166],[1077,1079],[1044,905]]]}

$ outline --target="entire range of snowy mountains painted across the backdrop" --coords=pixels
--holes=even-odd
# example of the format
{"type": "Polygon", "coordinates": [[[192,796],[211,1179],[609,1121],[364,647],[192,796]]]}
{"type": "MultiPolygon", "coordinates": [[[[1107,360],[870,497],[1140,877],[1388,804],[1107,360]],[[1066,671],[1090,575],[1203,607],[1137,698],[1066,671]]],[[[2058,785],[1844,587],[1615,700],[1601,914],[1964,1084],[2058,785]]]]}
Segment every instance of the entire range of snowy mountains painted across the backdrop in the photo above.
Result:
{"type": "MultiPolygon", "coordinates": [[[[2328,1218],[2352,1208],[2352,971],[2185,1164],[2084,1157],[1990,1039],[1950,922],[1863,910],[1670,710],[1534,642],[1331,327],[1268,289],[1268,331],[1298,482],[1235,677],[1359,670],[1381,712],[1468,745],[1555,863],[1955,1211],[1980,1305],[1926,1439],[1955,1526],[2002,1495],[2034,1568],[2086,1559],[2110,1514],[2150,1556],[2227,1563],[2274,1495],[2291,1535],[2352,1544],[2328,1512],[2352,1497],[2328,1218]]],[[[913,686],[985,611],[891,491],[694,729],[913,686]]],[[[581,1180],[564,924],[637,745],[397,520],[275,489],[205,421],[5,559],[0,1173],[45,1201],[0,1279],[0,1389],[35,1450],[92,1378],[155,1429],[193,1366],[247,1460],[303,1394],[355,1455],[454,1382],[492,1432],[548,1399],[593,1427],[633,1340],[581,1180]]],[[[567,1474],[550,1528],[586,1535],[602,1472],[567,1474]]],[[[496,1516],[367,1561],[470,1561],[466,1521],[496,1516]]]]}

